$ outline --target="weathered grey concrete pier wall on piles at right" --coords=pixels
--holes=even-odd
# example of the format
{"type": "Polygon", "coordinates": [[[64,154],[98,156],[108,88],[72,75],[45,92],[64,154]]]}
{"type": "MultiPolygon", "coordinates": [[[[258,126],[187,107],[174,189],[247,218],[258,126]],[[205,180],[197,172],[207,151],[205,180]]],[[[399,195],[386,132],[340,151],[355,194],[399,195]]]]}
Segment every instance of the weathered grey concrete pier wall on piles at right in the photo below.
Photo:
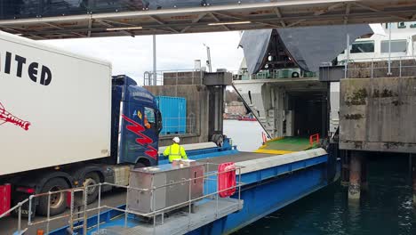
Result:
{"type": "Polygon", "coordinates": [[[416,153],[416,77],[340,81],[340,149],[416,153]]]}

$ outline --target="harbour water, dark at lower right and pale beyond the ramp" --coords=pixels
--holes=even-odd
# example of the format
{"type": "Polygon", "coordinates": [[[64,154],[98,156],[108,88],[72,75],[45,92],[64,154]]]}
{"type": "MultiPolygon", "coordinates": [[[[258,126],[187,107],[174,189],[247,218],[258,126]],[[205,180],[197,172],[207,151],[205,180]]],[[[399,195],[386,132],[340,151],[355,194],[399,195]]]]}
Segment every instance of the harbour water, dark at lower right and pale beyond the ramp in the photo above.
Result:
{"type": "MultiPolygon", "coordinates": [[[[239,149],[260,146],[259,124],[226,121],[224,128],[239,149]]],[[[362,192],[360,201],[348,200],[348,189],[334,182],[236,234],[416,234],[409,159],[389,154],[370,156],[368,160],[368,190],[362,192]]]]}

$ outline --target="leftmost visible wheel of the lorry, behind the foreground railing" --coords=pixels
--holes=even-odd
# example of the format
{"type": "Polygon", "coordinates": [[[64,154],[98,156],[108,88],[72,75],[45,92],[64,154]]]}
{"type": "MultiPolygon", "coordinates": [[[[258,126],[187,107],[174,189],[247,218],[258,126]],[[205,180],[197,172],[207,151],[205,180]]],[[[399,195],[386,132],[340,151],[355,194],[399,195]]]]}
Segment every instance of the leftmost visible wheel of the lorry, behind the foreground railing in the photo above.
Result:
{"type": "MultiPolygon", "coordinates": [[[[42,192],[67,190],[69,189],[68,182],[62,178],[52,178],[44,184],[42,192]]],[[[58,215],[67,208],[67,193],[60,192],[51,194],[51,211],[50,215],[58,215]]],[[[39,215],[48,215],[48,196],[39,198],[39,205],[37,206],[37,213],[39,215]]]]}

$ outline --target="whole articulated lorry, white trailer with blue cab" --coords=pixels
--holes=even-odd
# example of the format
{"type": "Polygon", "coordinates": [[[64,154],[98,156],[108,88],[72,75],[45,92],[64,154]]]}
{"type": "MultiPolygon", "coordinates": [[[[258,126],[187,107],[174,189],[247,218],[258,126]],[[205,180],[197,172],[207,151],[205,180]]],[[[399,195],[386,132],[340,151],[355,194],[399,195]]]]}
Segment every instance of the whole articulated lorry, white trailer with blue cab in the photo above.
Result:
{"type": "MultiPolygon", "coordinates": [[[[157,164],[161,127],[154,96],[110,63],[0,32],[0,215],[29,194],[126,184],[130,166],[157,164]]],[[[53,195],[56,215],[67,196],[53,195]]]]}

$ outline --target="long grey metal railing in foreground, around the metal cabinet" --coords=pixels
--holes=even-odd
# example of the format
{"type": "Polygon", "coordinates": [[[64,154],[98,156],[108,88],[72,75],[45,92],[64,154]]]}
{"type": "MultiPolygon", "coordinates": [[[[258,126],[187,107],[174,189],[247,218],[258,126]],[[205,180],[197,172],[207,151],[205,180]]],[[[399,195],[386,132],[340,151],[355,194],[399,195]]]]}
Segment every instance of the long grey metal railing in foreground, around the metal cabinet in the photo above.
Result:
{"type": "MultiPolygon", "coordinates": [[[[94,185],[88,185],[88,186],[84,186],[84,187],[79,187],[79,188],[74,188],[74,189],[68,189],[68,190],[57,190],[57,191],[49,191],[49,192],[44,192],[44,193],[40,193],[40,194],[36,194],[36,195],[30,195],[28,199],[25,199],[23,201],[21,201],[20,203],[18,203],[16,206],[12,207],[11,209],[9,209],[8,211],[4,212],[4,214],[0,215],[0,219],[5,217],[6,215],[9,215],[10,213],[12,213],[13,211],[18,211],[18,225],[17,225],[17,233],[16,234],[25,234],[26,231],[28,231],[28,229],[32,226],[35,225],[39,225],[39,224],[44,224],[45,226],[45,233],[44,234],[50,234],[51,232],[51,225],[50,223],[60,220],[60,219],[64,219],[64,218],[68,218],[68,225],[69,225],[69,232],[75,232],[78,231],[77,234],[87,234],[89,229],[94,229],[95,231],[100,231],[100,225],[102,224],[102,222],[100,221],[100,213],[103,209],[110,209],[110,210],[115,210],[118,211],[120,213],[122,213],[122,215],[124,214],[124,227],[127,228],[128,227],[128,216],[129,215],[137,215],[137,216],[142,216],[142,217],[150,217],[153,218],[153,233],[156,233],[156,226],[159,224],[163,224],[164,223],[164,214],[168,211],[171,211],[172,209],[175,208],[179,208],[179,207],[188,207],[188,213],[191,214],[192,213],[192,205],[199,200],[202,199],[211,199],[211,200],[215,200],[216,201],[216,207],[215,207],[215,216],[216,218],[219,218],[219,200],[220,200],[220,192],[222,191],[226,191],[226,190],[232,190],[232,189],[236,189],[236,206],[237,208],[242,208],[242,201],[241,201],[241,187],[244,185],[244,182],[241,182],[241,170],[242,168],[244,168],[244,166],[236,166],[235,169],[231,169],[228,171],[223,171],[223,172],[218,172],[218,171],[213,171],[212,169],[218,169],[218,164],[213,164],[213,163],[204,163],[204,175],[203,176],[199,176],[199,177],[194,177],[194,178],[189,178],[189,179],[183,179],[179,182],[170,182],[170,183],[166,183],[164,185],[159,185],[156,187],[152,187],[152,188],[148,188],[148,189],[140,189],[140,188],[134,188],[131,186],[125,186],[125,185],[118,185],[115,183],[109,183],[109,182],[100,182],[99,184],[94,184],[94,185]],[[203,187],[206,186],[205,182],[209,182],[209,181],[217,181],[218,177],[220,174],[226,174],[228,172],[236,172],[236,185],[232,186],[232,187],[228,187],[227,189],[223,189],[223,190],[219,190],[218,188],[218,183],[217,183],[217,189],[212,191],[212,192],[207,192],[203,194],[203,196],[201,197],[197,197],[195,199],[192,199],[192,182],[196,182],[197,180],[202,180],[203,183],[203,187]],[[183,202],[180,202],[176,205],[173,205],[171,207],[164,207],[161,209],[156,209],[156,199],[155,199],[155,195],[156,195],[156,190],[162,189],[162,188],[167,188],[167,187],[175,187],[177,185],[183,185],[188,183],[189,185],[189,193],[188,193],[188,199],[184,200],[183,202]],[[129,209],[129,193],[126,193],[125,196],[125,208],[122,209],[120,207],[110,207],[108,205],[102,205],[102,198],[101,198],[101,193],[102,193],[102,188],[104,186],[111,186],[113,188],[123,188],[126,191],[129,190],[138,190],[140,192],[150,192],[151,195],[151,201],[152,201],[152,210],[148,213],[140,213],[138,211],[133,211],[131,209],[129,209]],[[98,205],[97,207],[92,207],[92,208],[88,208],[88,189],[90,187],[98,187],[99,193],[98,193],[98,205]],[[75,207],[76,207],[76,192],[82,192],[83,194],[83,202],[82,202],[82,206],[84,207],[84,209],[79,210],[78,212],[75,212],[75,207]],[[63,215],[57,215],[57,216],[51,216],[51,197],[53,194],[56,193],[67,193],[70,194],[70,206],[69,206],[69,213],[64,213],[63,215]],[[33,222],[32,216],[34,214],[33,212],[33,208],[32,206],[34,205],[34,200],[36,198],[41,198],[41,197],[48,197],[48,210],[47,210],[47,215],[46,218],[40,221],[36,221],[33,222]],[[22,207],[24,207],[25,205],[28,205],[28,223],[27,226],[22,229],[22,222],[21,222],[21,211],[22,211],[22,207]],[[88,224],[88,213],[93,213],[96,212],[97,215],[97,223],[96,224],[88,224]],[[161,216],[161,221],[160,223],[156,223],[156,216],[161,216]],[[82,233],[81,233],[82,232],[82,233]]],[[[204,187],[205,189],[205,187],[204,187]]],[[[79,203],[78,203],[79,204],[79,203]]],[[[80,206],[80,205],[78,205],[80,206]]],[[[189,222],[190,223],[190,222],[189,222]]],[[[56,229],[56,228],[54,228],[56,229]]],[[[71,234],[72,234],[71,233],[71,234]]],[[[99,234],[99,233],[97,233],[99,234]]]]}

